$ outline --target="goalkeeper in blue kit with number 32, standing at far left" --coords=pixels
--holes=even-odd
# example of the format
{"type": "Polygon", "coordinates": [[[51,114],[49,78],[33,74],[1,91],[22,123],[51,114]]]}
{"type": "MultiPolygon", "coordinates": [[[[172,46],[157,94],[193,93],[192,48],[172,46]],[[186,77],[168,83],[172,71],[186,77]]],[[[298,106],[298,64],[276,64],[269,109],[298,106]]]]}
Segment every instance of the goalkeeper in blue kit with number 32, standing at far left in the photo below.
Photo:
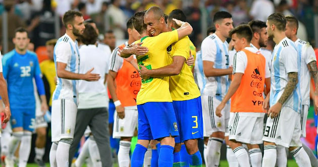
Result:
{"type": "Polygon", "coordinates": [[[5,159],[7,166],[14,165],[13,156],[20,141],[19,166],[26,166],[29,158],[31,135],[35,125],[33,78],[41,98],[41,110],[48,109],[37,56],[27,51],[29,41],[28,33],[24,28],[16,29],[13,38],[15,49],[3,58],[3,72],[8,83],[13,131],[9,143],[9,155],[5,159]]]}

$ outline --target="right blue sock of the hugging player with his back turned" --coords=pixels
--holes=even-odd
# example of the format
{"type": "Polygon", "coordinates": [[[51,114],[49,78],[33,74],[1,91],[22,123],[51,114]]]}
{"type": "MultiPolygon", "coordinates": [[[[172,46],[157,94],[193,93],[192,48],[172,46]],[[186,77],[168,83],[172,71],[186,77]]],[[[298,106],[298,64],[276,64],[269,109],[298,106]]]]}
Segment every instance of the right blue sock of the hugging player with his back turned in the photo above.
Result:
{"type": "MultiPolygon", "coordinates": [[[[174,148],[169,145],[160,146],[160,154],[158,159],[159,167],[172,167],[173,166],[173,150],[174,148]]],[[[202,163],[202,160],[201,160],[202,163]]],[[[131,166],[142,167],[142,166],[131,166]]]]}

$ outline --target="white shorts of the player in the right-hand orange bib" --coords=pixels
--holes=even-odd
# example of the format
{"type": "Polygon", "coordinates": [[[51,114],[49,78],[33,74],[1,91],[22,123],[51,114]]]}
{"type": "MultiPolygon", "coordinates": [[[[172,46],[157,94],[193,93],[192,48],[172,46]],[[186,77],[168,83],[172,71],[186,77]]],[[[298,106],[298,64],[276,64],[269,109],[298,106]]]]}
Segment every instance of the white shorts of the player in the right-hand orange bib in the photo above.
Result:
{"type": "Polygon", "coordinates": [[[265,113],[231,112],[229,139],[247,144],[262,144],[264,115],[265,113]]]}

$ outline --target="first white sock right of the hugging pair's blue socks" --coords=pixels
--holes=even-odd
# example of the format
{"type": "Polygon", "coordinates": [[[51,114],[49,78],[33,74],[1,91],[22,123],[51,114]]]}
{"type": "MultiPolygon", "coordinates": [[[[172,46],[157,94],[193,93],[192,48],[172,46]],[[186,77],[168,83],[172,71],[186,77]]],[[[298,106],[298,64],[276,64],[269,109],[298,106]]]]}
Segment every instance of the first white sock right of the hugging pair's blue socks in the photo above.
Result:
{"type": "Polygon", "coordinates": [[[221,156],[221,146],[224,139],[210,137],[207,143],[207,163],[206,166],[219,166],[221,156]]]}

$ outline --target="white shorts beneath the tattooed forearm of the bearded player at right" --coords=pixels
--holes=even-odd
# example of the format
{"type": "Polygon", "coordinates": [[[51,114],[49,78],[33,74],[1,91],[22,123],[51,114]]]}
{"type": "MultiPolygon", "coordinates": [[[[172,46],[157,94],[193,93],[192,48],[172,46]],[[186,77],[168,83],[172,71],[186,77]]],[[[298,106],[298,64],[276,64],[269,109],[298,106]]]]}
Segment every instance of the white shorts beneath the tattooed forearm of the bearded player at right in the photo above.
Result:
{"type": "Polygon", "coordinates": [[[273,142],[283,147],[300,147],[301,126],[299,113],[283,106],[277,117],[268,117],[263,141],[273,142]]]}

